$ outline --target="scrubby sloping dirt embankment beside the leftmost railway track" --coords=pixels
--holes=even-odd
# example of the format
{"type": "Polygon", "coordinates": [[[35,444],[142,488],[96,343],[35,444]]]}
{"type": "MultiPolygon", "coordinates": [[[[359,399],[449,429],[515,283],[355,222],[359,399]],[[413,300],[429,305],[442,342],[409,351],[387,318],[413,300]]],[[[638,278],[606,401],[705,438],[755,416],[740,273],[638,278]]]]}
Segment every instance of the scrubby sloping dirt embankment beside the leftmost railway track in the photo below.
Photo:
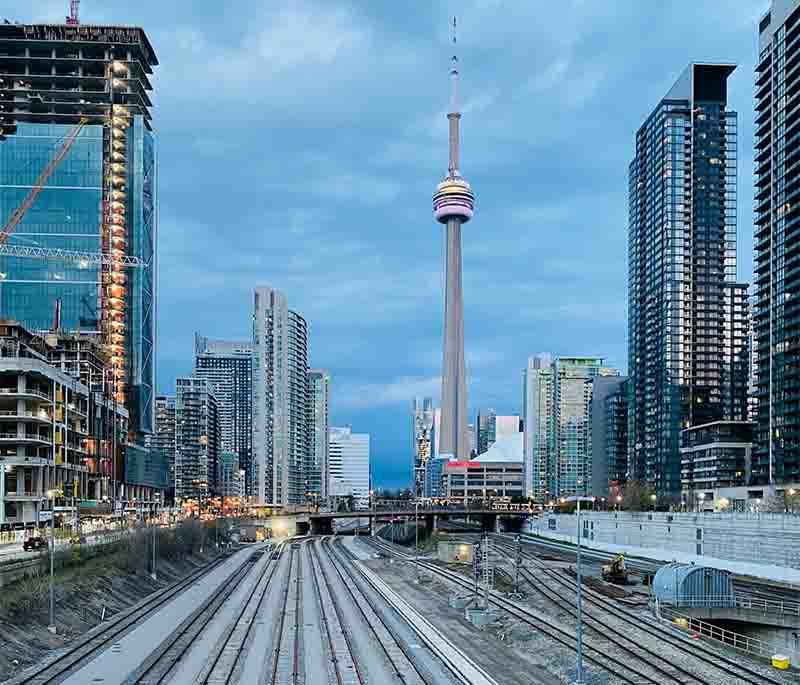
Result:
{"type": "Polygon", "coordinates": [[[121,573],[118,569],[97,565],[65,570],[56,582],[56,635],[47,630],[47,576],[3,587],[0,592],[29,593],[44,599],[34,603],[38,606],[27,605],[24,610],[19,607],[0,610],[0,635],[3,636],[0,640],[0,682],[96,626],[104,609],[106,618],[109,618],[179,580],[204,561],[198,556],[181,561],[162,560],[158,566],[158,581],[145,573],[121,573]]]}

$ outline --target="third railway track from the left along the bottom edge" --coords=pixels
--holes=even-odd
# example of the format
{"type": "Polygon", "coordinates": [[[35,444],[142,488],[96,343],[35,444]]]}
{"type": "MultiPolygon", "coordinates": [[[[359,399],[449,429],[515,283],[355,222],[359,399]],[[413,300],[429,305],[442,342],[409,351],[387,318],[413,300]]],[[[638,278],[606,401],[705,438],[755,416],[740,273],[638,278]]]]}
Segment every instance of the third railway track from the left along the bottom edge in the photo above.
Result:
{"type": "Polygon", "coordinates": [[[245,648],[252,639],[256,617],[261,613],[267,594],[272,587],[272,579],[280,565],[283,545],[278,545],[275,550],[268,553],[270,555],[268,572],[264,573],[259,582],[253,585],[253,589],[242,602],[233,620],[226,627],[222,638],[214,647],[210,662],[195,683],[231,685],[238,681],[245,648]]]}

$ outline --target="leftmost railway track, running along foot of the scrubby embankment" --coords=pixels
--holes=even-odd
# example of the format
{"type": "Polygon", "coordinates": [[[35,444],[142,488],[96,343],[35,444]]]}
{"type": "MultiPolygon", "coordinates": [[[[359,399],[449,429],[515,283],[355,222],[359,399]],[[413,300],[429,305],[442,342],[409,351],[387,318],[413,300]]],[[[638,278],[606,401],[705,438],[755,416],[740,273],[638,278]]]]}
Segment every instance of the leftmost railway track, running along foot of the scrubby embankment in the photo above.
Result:
{"type": "Polygon", "coordinates": [[[184,590],[216,569],[226,558],[218,558],[210,564],[193,571],[177,583],[154,592],[142,602],[103,624],[101,630],[95,631],[88,637],[79,640],[67,651],[60,651],[56,659],[47,661],[33,671],[26,671],[24,680],[12,680],[11,682],[24,682],[26,685],[51,685],[61,682],[127,635],[184,590]]]}

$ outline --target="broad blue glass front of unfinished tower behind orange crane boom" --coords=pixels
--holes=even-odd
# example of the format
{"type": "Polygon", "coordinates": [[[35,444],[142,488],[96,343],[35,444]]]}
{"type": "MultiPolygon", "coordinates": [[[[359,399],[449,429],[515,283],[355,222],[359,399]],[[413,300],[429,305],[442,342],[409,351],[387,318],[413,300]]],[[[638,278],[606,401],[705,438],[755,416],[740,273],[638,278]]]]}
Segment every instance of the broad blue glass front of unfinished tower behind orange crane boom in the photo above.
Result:
{"type": "MultiPolygon", "coordinates": [[[[10,219],[74,126],[25,124],[0,143],[0,220],[10,219]]],[[[9,244],[100,252],[103,127],[85,126],[11,234],[9,244]]],[[[0,316],[49,329],[98,331],[100,270],[85,263],[0,257],[0,316]]]]}

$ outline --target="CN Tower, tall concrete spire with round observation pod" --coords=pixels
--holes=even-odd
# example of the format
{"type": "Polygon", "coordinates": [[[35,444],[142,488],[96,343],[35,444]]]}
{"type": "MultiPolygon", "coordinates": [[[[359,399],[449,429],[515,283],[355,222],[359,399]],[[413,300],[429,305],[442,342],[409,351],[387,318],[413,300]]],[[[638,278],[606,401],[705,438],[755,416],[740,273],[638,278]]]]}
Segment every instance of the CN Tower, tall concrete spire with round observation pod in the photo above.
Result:
{"type": "MultiPolygon", "coordinates": [[[[453,50],[456,19],[453,17],[453,50]]],[[[450,162],[447,176],[436,186],[433,215],[445,224],[444,363],[439,454],[468,459],[467,386],[464,365],[464,295],[461,287],[461,226],[472,218],[475,196],[459,171],[458,146],[461,112],[458,105],[458,58],[450,66],[450,162]]]]}

